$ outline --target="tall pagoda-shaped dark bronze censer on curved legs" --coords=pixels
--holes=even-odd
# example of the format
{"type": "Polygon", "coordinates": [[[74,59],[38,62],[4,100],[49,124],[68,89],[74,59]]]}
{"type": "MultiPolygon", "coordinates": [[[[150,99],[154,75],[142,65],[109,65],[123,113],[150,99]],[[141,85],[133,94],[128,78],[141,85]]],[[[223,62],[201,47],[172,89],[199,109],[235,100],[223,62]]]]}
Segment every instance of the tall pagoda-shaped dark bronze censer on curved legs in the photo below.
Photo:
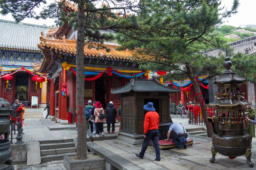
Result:
{"type": "Polygon", "coordinates": [[[215,161],[217,152],[229,158],[245,155],[247,164],[253,167],[251,137],[245,133],[248,121],[243,109],[251,103],[244,100],[244,93],[241,92],[241,85],[246,78],[230,70],[232,62],[228,53],[223,66],[226,71],[214,82],[218,87],[218,93],[215,95],[214,102],[210,103],[210,106],[216,107],[217,111],[213,118],[207,118],[214,132],[210,162],[215,161]]]}

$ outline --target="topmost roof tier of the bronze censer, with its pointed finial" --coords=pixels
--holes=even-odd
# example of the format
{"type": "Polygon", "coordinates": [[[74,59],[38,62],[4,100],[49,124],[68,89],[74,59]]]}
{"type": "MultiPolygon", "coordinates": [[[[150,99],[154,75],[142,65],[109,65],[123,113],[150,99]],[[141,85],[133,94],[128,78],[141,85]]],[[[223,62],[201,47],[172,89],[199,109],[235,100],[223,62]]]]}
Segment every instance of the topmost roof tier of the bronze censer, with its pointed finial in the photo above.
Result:
{"type": "Polygon", "coordinates": [[[238,76],[235,72],[231,71],[230,68],[232,66],[232,62],[230,61],[230,57],[225,57],[225,61],[223,66],[226,68],[226,71],[221,74],[218,80],[214,81],[214,84],[233,84],[233,83],[243,83],[246,81],[246,78],[238,76]]]}

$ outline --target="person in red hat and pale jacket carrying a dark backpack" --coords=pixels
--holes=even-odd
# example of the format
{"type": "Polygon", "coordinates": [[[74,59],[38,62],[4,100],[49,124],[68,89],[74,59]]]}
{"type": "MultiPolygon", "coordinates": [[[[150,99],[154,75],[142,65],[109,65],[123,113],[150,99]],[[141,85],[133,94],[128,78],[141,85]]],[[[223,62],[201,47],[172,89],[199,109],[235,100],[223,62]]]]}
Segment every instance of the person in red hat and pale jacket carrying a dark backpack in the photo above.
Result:
{"type": "Polygon", "coordinates": [[[94,122],[96,123],[96,136],[100,137],[100,133],[102,136],[105,136],[105,134],[103,133],[103,123],[105,121],[104,119],[104,115],[105,112],[103,110],[103,108],[101,107],[101,103],[97,102],[95,105],[95,109],[94,109],[94,116],[95,116],[95,120],[94,122]]]}

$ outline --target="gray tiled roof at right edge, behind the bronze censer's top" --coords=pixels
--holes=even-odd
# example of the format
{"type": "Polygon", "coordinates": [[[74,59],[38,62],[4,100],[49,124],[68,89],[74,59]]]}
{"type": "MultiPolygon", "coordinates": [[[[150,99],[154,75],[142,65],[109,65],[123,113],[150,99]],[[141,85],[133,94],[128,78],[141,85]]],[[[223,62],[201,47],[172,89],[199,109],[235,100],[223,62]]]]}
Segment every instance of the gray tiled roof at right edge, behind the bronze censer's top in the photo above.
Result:
{"type": "MultiPolygon", "coordinates": [[[[231,42],[229,45],[230,48],[234,49],[234,53],[241,52],[253,55],[256,53],[256,36],[245,38],[236,42],[231,42]]],[[[220,53],[225,53],[225,51],[219,51],[218,49],[205,52],[209,56],[218,56],[220,53]]]]}

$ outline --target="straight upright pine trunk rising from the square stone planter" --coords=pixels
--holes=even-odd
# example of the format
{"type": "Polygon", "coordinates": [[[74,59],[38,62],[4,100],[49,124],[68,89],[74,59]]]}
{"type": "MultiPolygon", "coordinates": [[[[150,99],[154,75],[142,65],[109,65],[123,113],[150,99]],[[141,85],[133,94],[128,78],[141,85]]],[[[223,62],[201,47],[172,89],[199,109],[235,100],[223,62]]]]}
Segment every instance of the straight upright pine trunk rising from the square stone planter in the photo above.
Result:
{"type": "MultiPolygon", "coordinates": [[[[78,21],[77,21],[77,43],[76,43],[76,112],[84,106],[84,0],[78,0],[78,21]]],[[[86,159],[86,119],[84,107],[77,116],[78,141],[76,155],[77,159],[86,159]],[[81,118],[82,117],[82,118],[81,118]],[[80,121],[81,120],[81,121],[80,121]],[[82,122],[82,123],[81,123],[82,122]]]]}

